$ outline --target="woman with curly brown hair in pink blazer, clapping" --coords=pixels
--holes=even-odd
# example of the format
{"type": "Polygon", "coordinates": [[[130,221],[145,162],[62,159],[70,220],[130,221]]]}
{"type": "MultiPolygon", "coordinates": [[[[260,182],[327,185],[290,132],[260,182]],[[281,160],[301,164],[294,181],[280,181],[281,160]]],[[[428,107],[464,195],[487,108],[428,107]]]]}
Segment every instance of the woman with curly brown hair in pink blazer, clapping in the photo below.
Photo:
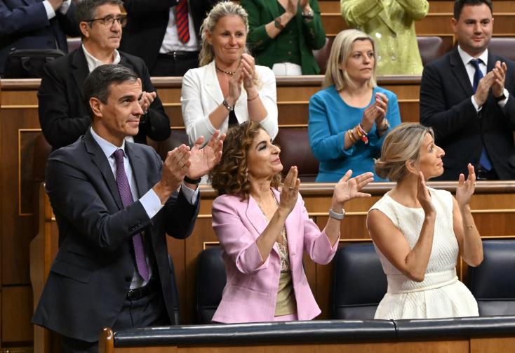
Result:
{"type": "Polygon", "coordinates": [[[327,264],[340,237],[346,201],[370,197],[359,190],[372,173],[335,185],[326,227],[309,219],[298,194],[297,167],[281,183],[281,149],[259,124],[229,128],[222,160],[210,173],[219,197],[213,201],[213,229],[224,248],[227,284],[213,321],[309,320],[320,314],[302,267],[302,254],[327,264]]]}

